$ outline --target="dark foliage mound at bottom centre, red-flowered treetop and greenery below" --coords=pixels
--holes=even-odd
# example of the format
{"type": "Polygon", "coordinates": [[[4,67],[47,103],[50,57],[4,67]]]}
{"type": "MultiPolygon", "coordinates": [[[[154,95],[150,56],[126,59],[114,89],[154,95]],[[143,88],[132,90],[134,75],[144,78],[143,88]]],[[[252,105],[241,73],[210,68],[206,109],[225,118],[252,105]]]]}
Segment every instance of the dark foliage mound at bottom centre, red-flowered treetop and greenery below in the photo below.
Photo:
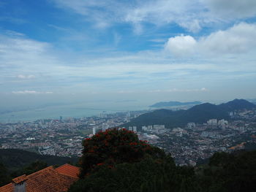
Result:
{"type": "Polygon", "coordinates": [[[198,191],[195,172],[126,129],[83,141],[81,179],[69,191],[198,191]]]}

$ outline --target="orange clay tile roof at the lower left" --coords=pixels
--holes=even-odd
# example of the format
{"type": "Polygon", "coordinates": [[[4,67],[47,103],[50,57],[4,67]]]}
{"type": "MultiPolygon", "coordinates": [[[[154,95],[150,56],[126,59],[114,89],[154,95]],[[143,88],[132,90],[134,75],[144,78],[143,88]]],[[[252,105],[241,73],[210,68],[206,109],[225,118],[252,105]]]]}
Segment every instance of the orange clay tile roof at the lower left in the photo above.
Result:
{"type": "Polygon", "coordinates": [[[24,174],[13,179],[13,183],[1,187],[0,192],[12,192],[14,191],[15,183],[17,184],[23,181],[26,181],[26,192],[67,191],[69,186],[78,180],[78,176],[74,177],[74,175],[78,173],[79,168],[76,166],[60,166],[59,171],[53,169],[53,166],[48,166],[39,172],[34,172],[28,176],[24,174]],[[78,172],[75,172],[75,170],[78,170],[78,172]],[[64,174],[61,172],[64,172],[64,174]]]}

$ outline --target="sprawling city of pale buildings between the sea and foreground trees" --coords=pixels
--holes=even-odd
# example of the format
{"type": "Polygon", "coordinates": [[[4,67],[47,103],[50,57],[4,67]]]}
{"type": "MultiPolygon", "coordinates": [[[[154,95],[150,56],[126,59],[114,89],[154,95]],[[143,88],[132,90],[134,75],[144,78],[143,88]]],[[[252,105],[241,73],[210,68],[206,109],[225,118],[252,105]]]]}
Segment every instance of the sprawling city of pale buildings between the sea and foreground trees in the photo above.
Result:
{"type": "Polygon", "coordinates": [[[41,155],[80,157],[83,139],[108,128],[127,128],[170,153],[178,165],[196,166],[215,152],[232,152],[256,145],[256,110],[230,112],[230,121],[209,119],[203,124],[165,128],[165,125],[123,127],[146,111],[117,112],[89,118],[62,118],[1,123],[0,148],[23,149],[41,155]]]}

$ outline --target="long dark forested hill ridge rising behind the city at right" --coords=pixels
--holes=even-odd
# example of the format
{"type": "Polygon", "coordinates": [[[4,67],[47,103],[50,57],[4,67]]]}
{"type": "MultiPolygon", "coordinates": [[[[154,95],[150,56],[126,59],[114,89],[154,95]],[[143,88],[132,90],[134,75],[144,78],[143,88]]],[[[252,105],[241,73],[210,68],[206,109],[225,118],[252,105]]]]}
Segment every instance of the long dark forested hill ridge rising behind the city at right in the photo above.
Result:
{"type": "Polygon", "coordinates": [[[230,119],[228,112],[235,110],[252,110],[256,108],[255,104],[244,99],[235,99],[225,104],[198,104],[189,110],[155,110],[140,115],[138,118],[132,119],[123,126],[150,126],[165,125],[167,128],[177,126],[185,126],[189,122],[206,123],[211,118],[230,119]]]}

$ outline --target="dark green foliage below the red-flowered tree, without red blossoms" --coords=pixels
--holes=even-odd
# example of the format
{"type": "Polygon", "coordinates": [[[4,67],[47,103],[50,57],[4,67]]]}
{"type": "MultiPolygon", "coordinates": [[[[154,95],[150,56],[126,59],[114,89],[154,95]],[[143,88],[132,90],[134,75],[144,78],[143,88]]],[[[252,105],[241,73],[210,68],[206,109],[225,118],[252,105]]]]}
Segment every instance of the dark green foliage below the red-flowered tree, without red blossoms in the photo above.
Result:
{"type": "Polygon", "coordinates": [[[170,162],[167,158],[162,162],[146,158],[133,164],[117,164],[114,168],[102,165],[97,172],[72,185],[69,191],[198,191],[194,171],[177,168],[170,162]]]}

